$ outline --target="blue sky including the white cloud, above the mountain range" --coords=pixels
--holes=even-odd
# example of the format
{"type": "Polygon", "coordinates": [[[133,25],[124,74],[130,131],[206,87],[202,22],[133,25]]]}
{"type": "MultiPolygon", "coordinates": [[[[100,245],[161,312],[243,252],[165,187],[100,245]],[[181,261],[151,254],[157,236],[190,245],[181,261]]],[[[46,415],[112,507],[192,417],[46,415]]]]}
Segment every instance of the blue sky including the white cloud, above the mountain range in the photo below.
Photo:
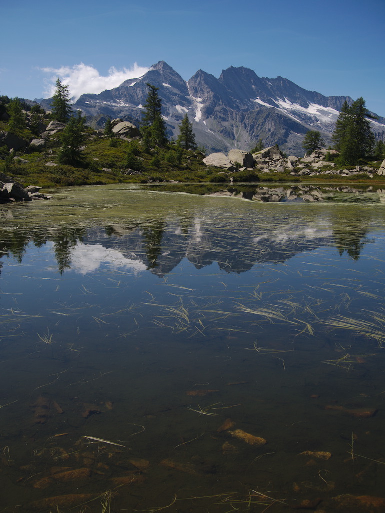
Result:
{"type": "MultiPolygon", "coordinates": [[[[166,61],[185,80],[229,66],[385,116],[385,0],[17,0],[3,3],[0,94],[78,96],[166,61]]],[[[98,90],[99,89],[99,90],[98,90]]]]}

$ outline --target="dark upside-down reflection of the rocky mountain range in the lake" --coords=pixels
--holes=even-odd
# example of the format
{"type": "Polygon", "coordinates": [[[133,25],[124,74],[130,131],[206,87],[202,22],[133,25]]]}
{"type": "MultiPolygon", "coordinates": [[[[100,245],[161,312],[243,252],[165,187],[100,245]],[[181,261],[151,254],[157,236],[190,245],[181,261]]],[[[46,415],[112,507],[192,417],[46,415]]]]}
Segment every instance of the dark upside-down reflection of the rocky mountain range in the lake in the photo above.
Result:
{"type": "Polygon", "coordinates": [[[184,258],[196,268],[217,262],[227,272],[246,271],[258,262],[285,262],[303,251],[330,245],[332,235],[332,230],[325,226],[303,230],[299,224],[275,233],[263,232],[257,226],[237,226],[218,232],[195,219],[189,230],[165,222],[145,230],[123,225],[110,226],[106,231],[92,229],[83,243],[115,249],[163,275],[184,258]]]}

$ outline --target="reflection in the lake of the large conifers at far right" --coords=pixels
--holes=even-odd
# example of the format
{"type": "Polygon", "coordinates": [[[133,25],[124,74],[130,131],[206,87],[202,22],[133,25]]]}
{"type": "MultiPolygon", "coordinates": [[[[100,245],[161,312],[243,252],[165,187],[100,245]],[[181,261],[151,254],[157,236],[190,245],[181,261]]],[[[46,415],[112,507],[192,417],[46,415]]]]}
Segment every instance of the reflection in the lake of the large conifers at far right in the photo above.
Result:
{"type": "Polygon", "coordinates": [[[371,242],[371,239],[367,237],[367,226],[370,219],[365,219],[365,217],[347,219],[346,216],[343,216],[335,220],[333,238],[341,257],[346,252],[351,259],[358,260],[364,246],[371,242]]]}

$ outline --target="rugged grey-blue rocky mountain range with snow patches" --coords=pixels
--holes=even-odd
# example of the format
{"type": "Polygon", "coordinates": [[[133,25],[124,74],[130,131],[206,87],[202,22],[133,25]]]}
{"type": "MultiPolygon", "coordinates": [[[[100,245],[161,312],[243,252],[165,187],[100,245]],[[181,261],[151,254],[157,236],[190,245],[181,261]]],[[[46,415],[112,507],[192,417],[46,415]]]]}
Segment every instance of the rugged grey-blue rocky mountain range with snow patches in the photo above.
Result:
{"type": "MultiPolygon", "coordinates": [[[[187,82],[167,63],[159,61],[138,78],[100,94],[82,94],[73,104],[94,128],[107,117],[119,117],[138,126],[148,93],[147,83],[159,88],[168,134],[176,137],[187,113],[196,141],[208,152],[233,148],[250,150],[259,139],[264,146],[278,144],[288,154],[303,155],[303,136],[318,130],[327,144],[345,100],[308,91],[287,78],[259,77],[253,70],[230,67],[219,78],[199,69],[187,82]]],[[[41,102],[49,107],[49,100],[41,102]]],[[[372,122],[377,140],[385,139],[385,118],[372,122]]]]}

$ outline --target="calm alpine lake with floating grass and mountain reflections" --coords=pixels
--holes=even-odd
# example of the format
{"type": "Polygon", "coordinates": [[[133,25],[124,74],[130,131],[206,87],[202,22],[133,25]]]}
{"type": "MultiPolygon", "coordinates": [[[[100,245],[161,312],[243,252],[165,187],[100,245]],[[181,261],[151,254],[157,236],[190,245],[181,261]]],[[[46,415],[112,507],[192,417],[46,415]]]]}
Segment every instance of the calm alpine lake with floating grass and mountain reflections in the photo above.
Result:
{"type": "Polygon", "coordinates": [[[1,512],[385,511],[385,191],[51,192],[0,205],[1,512]]]}

